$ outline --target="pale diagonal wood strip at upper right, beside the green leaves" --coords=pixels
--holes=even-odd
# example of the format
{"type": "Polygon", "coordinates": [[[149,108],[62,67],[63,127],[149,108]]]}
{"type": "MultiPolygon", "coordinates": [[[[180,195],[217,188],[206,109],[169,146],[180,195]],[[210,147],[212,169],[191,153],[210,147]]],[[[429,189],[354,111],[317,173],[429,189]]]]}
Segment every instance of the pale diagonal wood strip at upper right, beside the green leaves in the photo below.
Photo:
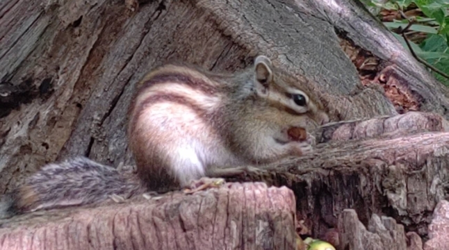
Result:
{"type": "MultiPolygon", "coordinates": [[[[305,2],[307,7],[312,6],[311,12],[319,12],[318,16],[334,26],[342,44],[349,42],[352,48],[361,49],[361,54],[373,55],[363,61],[375,61],[372,66],[375,72],[373,83],[382,88],[393,87],[405,100],[416,103],[418,110],[439,113],[448,119],[448,89],[423,69],[423,65],[412,58],[410,53],[404,52],[406,49],[395,36],[374,19],[359,1],[338,1],[338,4],[324,0],[305,2]]],[[[360,58],[364,56],[359,55],[357,60],[360,58]]],[[[355,60],[353,62],[356,63],[355,60]]],[[[367,96],[362,99],[377,101],[367,96]]],[[[357,102],[357,105],[360,105],[359,108],[365,106],[361,102],[357,102]]],[[[340,108],[345,110],[345,107],[340,108]]]]}

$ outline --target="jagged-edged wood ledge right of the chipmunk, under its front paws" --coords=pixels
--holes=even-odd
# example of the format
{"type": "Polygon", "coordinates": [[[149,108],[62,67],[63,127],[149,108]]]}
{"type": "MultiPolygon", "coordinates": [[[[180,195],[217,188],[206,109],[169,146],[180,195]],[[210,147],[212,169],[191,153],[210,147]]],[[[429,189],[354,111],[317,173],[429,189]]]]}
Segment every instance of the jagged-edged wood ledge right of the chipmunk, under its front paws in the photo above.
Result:
{"type": "Polygon", "coordinates": [[[436,203],[447,196],[446,123],[438,115],[409,113],[352,122],[356,125],[349,134],[340,130],[359,140],[341,140],[344,136],[334,130],[338,124],[327,126],[329,131],[323,134],[333,133],[338,140],[318,144],[309,156],[283,160],[240,180],[263,180],[291,188],[297,197],[297,216],[312,228],[313,235],[336,228],[338,215],[345,208],[356,210],[366,225],[371,215],[386,215],[404,224],[407,231],[426,235],[436,203]],[[407,120],[421,122],[411,128],[407,120]],[[384,126],[376,126],[379,122],[384,126]],[[391,128],[396,131],[389,132],[391,128]]]}

